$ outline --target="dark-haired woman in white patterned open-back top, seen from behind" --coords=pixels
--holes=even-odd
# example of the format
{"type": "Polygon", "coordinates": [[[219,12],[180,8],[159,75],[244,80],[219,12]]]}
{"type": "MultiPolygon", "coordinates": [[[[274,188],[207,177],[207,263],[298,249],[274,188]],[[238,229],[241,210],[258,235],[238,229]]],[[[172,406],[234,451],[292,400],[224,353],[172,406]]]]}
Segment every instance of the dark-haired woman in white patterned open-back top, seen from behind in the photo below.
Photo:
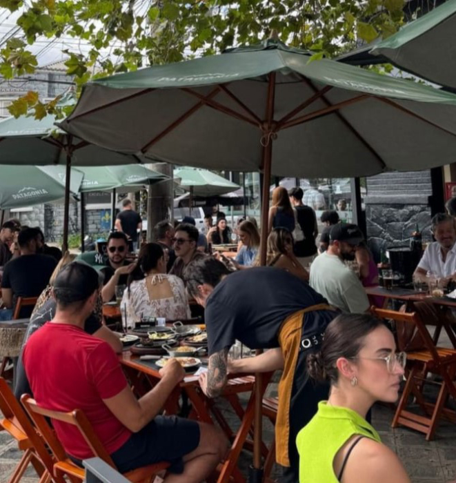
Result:
{"type": "Polygon", "coordinates": [[[130,321],[139,322],[141,315],[190,319],[184,282],[175,275],[166,275],[166,257],[159,244],[148,243],[139,250],[137,265],[123,293],[124,303],[130,321]]]}

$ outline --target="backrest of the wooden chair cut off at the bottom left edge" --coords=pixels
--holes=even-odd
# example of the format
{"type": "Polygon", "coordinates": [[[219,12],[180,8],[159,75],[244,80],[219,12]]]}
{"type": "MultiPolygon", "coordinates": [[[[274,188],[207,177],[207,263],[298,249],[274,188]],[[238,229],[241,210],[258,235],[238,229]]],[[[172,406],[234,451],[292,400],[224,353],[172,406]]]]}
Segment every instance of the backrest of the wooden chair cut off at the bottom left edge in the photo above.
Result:
{"type": "MultiPolygon", "coordinates": [[[[46,466],[46,470],[52,475],[52,469],[54,462],[50,456],[46,446],[44,445],[41,436],[37,433],[32,425],[32,422],[28,419],[23,407],[19,401],[14,397],[10,386],[3,377],[0,377],[0,411],[3,413],[4,421],[3,427],[6,428],[6,423],[10,423],[18,432],[23,433],[37,452],[37,455],[46,466]]],[[[8,431],[8,428],[6,428],[8,431]]],[[[9,431],[8,431],[9,432],[9,431]]],[[[57,480],[57,482],[64,483],[63,480],[57,480]]]]}

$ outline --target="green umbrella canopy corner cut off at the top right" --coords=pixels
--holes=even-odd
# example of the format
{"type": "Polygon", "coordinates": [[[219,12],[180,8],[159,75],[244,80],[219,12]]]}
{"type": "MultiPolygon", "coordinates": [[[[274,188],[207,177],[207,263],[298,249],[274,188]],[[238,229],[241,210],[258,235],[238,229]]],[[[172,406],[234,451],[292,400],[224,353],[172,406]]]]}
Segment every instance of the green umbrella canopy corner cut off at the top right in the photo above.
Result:
{"type": "Polygon", "coordinates": [[[456,89],[456,0],[407,23],[370,53],[423,79],[456,89]]]}

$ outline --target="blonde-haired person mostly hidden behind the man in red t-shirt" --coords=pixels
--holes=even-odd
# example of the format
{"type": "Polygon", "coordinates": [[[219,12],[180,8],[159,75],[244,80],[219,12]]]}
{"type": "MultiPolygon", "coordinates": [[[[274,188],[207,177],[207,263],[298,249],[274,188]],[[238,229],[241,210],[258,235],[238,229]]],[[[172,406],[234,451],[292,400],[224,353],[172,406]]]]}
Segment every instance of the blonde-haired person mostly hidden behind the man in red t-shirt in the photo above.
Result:
{"type": "MultiPolygon", "coordinates": [[[[21,346],[21,354],[19,355],[17,366],[14,369],[14,395],[17,397],[18,400],[21,399],[21,395],[23,394],[32,394],[32,389],[30,388],[30,384],[27,379],[26,371],[23,368],[22,363],[22,353],[23,347],[25,346],[26,342],[28,341],[29,337],[41,328],[46,322],[49,322],[54,318],[55,311],[57,308],[57,302],[54,299],[54,293],[52,286],[54,285],[54,280],[57,277],[57,274],[60,270],[73,262],[75,260],[76,255],[72,255],[68,251],[63,255],[60,262],[54,269],[52,273],[49,285],[41,292],[41,295],[38,297],[37,303],[34,306],[32,315],[30,315],[30,322],[27,326],[26,334],[23,337],[22,346],[21,346]]],[[[77,262],[77,263],[84,263],[84,262],[77,262]]],[[[103,279],[103,275],[101,275],[101,280],[103,279]]],[[[95,302],[95,308],[93,312],[88,316],[86,319],[86,323],[83,326],[84,332],[93,335],[94,337],[98,337],[99,339],[103,339],[104,341],[108,342],[108,344],[114,349],[116,353],[122,352],[122,343],[120,342],[119,337],[112,333],[108,327],[103,325],[103,315],[102,315],[102,306],[103,302],[101,302],[101,294],[97,297],[97,301],[95,302]]]]}

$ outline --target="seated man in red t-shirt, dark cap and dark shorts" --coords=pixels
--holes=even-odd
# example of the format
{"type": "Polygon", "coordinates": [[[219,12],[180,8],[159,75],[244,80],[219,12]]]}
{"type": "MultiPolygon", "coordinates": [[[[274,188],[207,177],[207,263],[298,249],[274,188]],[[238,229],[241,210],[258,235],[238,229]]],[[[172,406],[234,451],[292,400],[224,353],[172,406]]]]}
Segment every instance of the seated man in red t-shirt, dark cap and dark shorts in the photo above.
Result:
{"type": "MultiPolygon", "coordinates": [[[[167,483],[201,482],[226,453],[226,440],[210,424],[158,415],[184,378],[170,361],[161,380],[137,400],[117,355],[103,340],[83,331],[99,290],[97,272],[83,262],[64,267],[54,282],[54,319],[35,332],[23,364],[37,403],[55,411],[81,409],[121,473],[170,462],[167,483]]],[[[93,453],[75,426],[53,421],[66,452],[80,462],[93,453]]]]}

